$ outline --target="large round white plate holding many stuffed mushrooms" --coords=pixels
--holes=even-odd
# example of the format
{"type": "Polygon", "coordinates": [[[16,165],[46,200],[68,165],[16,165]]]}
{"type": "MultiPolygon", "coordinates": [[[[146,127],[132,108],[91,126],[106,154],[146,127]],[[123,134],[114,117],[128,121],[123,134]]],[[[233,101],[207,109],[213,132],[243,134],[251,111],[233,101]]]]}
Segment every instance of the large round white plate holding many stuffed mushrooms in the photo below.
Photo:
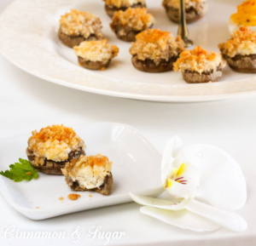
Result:
{"type": "MultiPolygon", "coordinates": [[[[156,19],[155,28],[177,33],[177,24],[167,19],[161,0],[148,0],[156,19]]],[[[189,25],[195,45],[218,51],[218,43],[230,37],[228,20],[236,12],[237,0],[208,0],[207,15],[189,25]]],[[[224,69],[218,83],[188,84],[181,73],[139,72],[131,65],[129,49],[115,37],[102,0],[16,0],[0,16],[0,49],[22,70],[73,89],[137,100],[207,101],[255,94],[256,77],[224,69]],[[78,65],[73,49],[57,37],[58,20],[69,9],[88,11],[101,17],[103,34],[119,47],[119,55],[106,71],[90,71],[78,65]]]]}

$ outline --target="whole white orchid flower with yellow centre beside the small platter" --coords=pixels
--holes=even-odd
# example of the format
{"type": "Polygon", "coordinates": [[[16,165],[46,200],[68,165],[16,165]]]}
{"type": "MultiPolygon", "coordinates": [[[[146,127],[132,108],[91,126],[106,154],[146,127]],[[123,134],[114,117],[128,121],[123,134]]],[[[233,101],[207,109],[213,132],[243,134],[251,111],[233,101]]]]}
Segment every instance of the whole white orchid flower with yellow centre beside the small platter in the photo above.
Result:
{"type": "Polygon", "coordinates": [[[130,193],[144,205],[143,214],[197,232],[220,226],[235,232],[247,229],[247,222],[229,211],[246,203],[247,189],[238,163],[226,152],[214,146],[183,146],[174,137],[162,158],[161,181],[171,195],[166,199],[130,193]]]}

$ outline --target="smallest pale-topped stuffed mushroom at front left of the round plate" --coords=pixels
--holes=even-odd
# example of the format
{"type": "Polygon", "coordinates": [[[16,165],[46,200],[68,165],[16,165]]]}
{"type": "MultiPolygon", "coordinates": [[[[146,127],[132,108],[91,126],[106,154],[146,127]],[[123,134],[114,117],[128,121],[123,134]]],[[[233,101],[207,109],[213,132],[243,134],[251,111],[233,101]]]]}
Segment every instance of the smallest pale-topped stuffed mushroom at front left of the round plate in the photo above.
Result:
{"type": "Polygon", "coordinates": [[[89,69],[107,67],[111,60],[119,53],[118,47],[108,44],[107,39],[85,41],[73,49],[78,56],[79,64],[89,69]]]}

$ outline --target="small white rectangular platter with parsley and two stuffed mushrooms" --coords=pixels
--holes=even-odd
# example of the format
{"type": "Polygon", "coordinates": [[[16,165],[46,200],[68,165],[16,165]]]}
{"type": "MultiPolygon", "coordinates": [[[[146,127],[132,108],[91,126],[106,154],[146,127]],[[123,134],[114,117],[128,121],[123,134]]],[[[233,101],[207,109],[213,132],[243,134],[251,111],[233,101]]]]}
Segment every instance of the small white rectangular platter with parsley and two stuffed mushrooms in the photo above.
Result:
{"type": "MultiPolygon", "coordinates": [[[[102,153],[113,162],[112,193],[103,196],[97,192],[77,192],[81,197],[72,201],[67,195],[74,192],[67,186],[64,176],[39,173],[38,180],[29,182],[14,182],[0,176],[0,191],[14,209],[32,220],[42,220],[128,203],[131,202],[128,192],[160,193],[160,154],[136,129],[119,123],[95,123],[73,129],[84,140],[87,155],[102,153]]],[[[0,170],[9,169],[20,157],[26,158],[29,136],[0,140],[0,170]]]]}

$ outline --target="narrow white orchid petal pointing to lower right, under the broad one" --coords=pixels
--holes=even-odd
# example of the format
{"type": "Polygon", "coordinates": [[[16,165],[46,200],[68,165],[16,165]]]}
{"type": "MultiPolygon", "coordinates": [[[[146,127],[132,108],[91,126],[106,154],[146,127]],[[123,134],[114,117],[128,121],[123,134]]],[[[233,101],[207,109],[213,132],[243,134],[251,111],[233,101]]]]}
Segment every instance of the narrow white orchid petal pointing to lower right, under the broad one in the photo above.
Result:
{"type": "Polygon", "coordinates": [[[205,203],[195,201],[195,199],[190,200],[186,204],[186,209],[234,232],[244,232],[247,230],[246,220],[234,212],[217,209],[205,203]]]}

